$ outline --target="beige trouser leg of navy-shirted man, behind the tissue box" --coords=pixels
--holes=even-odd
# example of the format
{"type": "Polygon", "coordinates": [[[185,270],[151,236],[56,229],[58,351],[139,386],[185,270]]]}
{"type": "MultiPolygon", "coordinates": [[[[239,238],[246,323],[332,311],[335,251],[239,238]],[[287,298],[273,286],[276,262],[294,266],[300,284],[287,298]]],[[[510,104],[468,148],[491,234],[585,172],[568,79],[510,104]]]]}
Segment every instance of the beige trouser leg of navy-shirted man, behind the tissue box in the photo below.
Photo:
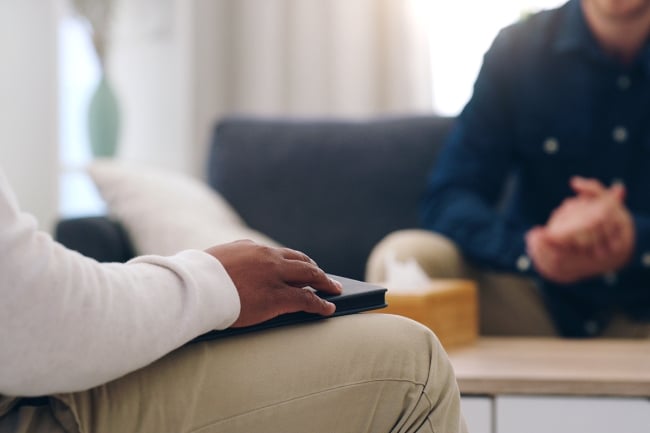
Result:
{"type": "Polygon", "coordinates": [[[386,278],[386,257],[410,258],[431,278],[468,278],[479,288],[482,335],[556,335],[535,283],[514,274],[481,272],[463,259],[456,245],[427,230],[401,230],[384,238],[368,259],[366,279],[386,278]]]}

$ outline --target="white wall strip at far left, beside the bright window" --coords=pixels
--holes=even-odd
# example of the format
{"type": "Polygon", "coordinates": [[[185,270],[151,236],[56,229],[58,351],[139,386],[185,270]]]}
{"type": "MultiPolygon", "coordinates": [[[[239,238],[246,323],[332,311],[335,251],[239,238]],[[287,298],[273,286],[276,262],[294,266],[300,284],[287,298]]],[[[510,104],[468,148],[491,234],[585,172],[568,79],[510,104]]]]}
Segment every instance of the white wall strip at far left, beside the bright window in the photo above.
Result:
{"type": "Polygon", "coordinates": [[[0,0],[0,166],[45,230],[57,212],[56,17],[54,1],[0,0]]]}

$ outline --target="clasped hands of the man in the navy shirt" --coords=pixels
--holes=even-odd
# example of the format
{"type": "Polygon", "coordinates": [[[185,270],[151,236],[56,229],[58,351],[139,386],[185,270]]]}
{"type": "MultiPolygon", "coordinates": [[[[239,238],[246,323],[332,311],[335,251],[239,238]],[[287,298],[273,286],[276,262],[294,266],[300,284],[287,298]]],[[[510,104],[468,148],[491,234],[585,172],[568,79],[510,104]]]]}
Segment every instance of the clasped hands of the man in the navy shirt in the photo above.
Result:
{"type": "Polygon", "coordinates": [[[595,179],[574,177],[576,195],[551,214],[545,226],[526,234],[537,272],[571,284],[625,266],[634,249],[634,222],[625,207],[625,187],[606,188],[595,179]]]}

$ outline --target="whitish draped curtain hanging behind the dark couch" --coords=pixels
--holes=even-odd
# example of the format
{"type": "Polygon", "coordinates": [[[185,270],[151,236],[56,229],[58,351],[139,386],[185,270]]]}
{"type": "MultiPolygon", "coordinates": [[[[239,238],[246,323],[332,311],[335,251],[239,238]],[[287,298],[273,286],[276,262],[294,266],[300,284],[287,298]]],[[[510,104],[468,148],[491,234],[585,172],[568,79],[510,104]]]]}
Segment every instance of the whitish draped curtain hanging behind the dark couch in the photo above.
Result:
{"type": "MultiPolygon", "coordinates": [[[[199,0],[193,130],[225,114],[431,110],[426,0],[199,0]]],[[[200,149],[200,155],[205,153],[200,149]]]]}

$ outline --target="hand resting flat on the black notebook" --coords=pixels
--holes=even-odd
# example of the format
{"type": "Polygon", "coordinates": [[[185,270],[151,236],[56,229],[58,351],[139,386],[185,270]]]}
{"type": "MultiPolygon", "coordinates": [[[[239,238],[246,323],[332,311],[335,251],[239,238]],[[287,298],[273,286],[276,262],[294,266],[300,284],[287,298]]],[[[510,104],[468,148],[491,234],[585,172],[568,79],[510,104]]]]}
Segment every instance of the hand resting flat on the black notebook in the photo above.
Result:
{"type": "Polygon", "coordinates": [[[299,251],[244,240],[216,245],[206,252],[223,264],[239,292],[241,312],[233,327],[296,311],[331,315],[336,309],[305,287],[336,295],[341,293],[340,284],[299,251]]]}

